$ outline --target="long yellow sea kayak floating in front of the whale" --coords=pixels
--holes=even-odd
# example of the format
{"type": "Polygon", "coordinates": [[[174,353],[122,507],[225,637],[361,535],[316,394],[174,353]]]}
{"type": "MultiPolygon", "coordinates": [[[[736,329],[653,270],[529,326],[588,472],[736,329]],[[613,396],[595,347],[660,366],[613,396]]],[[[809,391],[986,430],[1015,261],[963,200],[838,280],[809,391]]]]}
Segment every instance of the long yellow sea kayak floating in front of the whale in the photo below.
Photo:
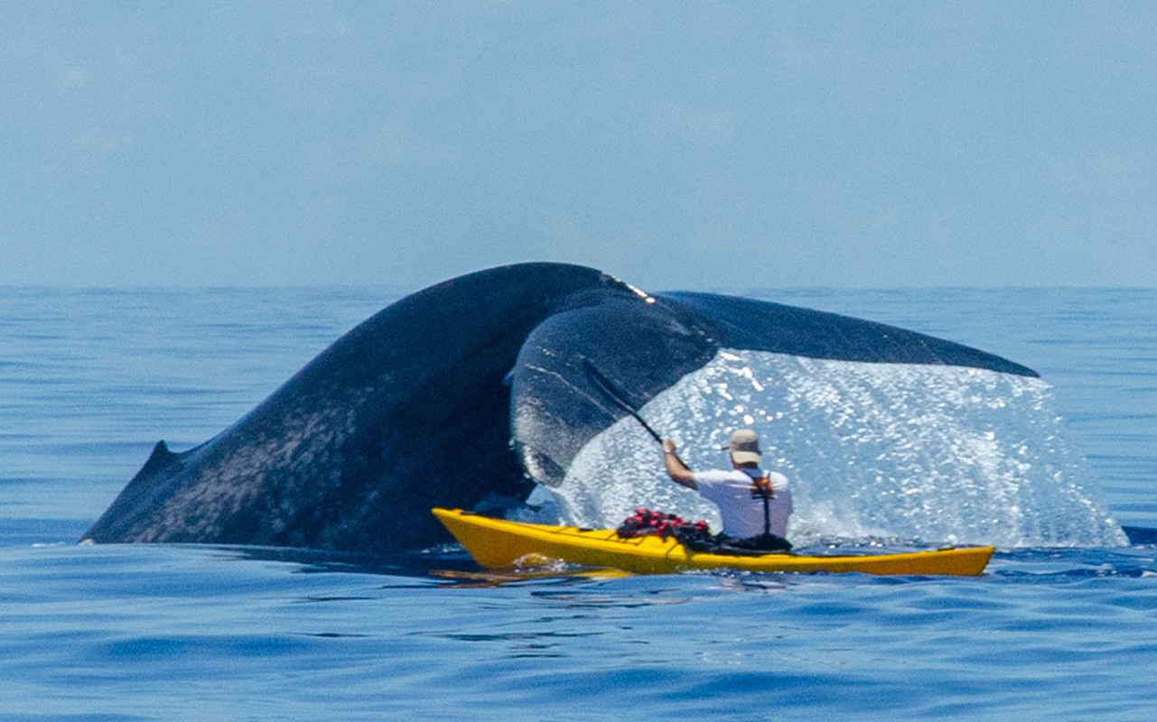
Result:
{"type": "Polygon", "coordinates": [[[967,546],[894,554],[820,556],[769,553],[756,557],[694,552],[673,538],[620,538],[613,529],[580,529],[491,519],[460,509],[433,509],[474,561],[485,567],[541,566],[553,560],[614,567],[642,574],[688,570],[750,572],[861,572],[864,574],[951,574],[975,576],[996,551],[967,546]]]}

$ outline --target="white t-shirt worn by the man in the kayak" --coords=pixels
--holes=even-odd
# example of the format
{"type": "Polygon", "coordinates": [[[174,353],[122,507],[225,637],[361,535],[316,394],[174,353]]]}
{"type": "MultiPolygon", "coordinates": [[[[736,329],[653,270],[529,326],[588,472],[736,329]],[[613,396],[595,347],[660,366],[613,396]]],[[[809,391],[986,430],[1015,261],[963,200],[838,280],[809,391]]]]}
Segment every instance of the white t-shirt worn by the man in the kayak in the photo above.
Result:
{"type": "MultiPolygon", "coordinates": [[[[764,533],[764,499],[752,498],[752,476],[767,474],[761,469],[713,469],[695,471],[695,489],[705,499],[720,507],[723,519],[723,531],[729,536],[747,538],[764,533]]],[[[779,471],[767,474],[772,485],[772,499],[768,503],[771,531],[776,536],[787,536],[788,518],[791,516],[791,490],[788,477],[779,471]]]]}

